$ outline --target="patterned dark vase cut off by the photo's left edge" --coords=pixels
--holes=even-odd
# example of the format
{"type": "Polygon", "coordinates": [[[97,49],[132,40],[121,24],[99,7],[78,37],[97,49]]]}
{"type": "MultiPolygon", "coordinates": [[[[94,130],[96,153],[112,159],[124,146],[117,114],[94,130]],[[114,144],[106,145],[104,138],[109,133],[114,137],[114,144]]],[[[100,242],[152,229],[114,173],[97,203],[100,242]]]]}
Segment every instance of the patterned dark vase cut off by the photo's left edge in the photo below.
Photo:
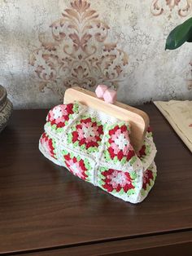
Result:
{"type": "Polygon", "coordinates": [[[0,86],[0,131],[7,126],[12,113],[13,105],[11,101],[7,99],[7,90],[0,86]]]}

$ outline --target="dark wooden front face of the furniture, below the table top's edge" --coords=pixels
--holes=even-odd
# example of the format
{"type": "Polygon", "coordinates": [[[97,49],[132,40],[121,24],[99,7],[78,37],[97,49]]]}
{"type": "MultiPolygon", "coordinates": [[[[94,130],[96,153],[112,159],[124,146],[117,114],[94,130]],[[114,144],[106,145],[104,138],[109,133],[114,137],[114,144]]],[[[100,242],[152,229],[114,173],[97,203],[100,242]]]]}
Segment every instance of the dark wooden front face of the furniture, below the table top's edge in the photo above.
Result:
{"type": "MultiPolygon", "coordinates": [[[[191,241],[192,232],[176,232],[68,248],[44,249],[32,253],[32,256],[191,256],[191,241]]],[[[28,256],[28,253],[22,255],[28,256]]]]}

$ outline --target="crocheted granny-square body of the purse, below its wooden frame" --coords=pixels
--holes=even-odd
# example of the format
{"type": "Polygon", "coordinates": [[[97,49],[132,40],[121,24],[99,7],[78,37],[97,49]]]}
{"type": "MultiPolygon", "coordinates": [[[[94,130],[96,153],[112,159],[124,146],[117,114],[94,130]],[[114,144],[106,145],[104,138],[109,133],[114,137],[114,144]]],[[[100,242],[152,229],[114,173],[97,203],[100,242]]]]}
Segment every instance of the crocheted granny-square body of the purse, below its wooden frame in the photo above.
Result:
{"type": "Polygon", "coordinates": [[[44,128],[40,151],[80,179],[131,203],[143,201],[153,187],[156,148],[150,129],[136,154],[129,122],[78,102],[52,108],[44,128]]]}

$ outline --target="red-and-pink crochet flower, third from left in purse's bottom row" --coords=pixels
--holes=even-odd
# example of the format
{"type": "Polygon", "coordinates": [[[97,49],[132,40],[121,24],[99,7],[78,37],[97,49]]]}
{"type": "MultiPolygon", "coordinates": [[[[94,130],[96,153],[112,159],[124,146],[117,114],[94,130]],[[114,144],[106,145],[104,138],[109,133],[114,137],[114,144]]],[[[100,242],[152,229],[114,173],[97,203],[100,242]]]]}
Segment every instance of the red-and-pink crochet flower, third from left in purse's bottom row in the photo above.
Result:
{"type": "Polygon", "coordinates": [[[105,183],[103,184],[103,188],[107,189],[107,192],[112,192],[113,190],[120,192],[121,188],[124,189],[124,192],[128,192],[129,189],[134,188],[128,172],[109,169],[103,171],[102,174],[105,177],[103,179],[105,183]]]}

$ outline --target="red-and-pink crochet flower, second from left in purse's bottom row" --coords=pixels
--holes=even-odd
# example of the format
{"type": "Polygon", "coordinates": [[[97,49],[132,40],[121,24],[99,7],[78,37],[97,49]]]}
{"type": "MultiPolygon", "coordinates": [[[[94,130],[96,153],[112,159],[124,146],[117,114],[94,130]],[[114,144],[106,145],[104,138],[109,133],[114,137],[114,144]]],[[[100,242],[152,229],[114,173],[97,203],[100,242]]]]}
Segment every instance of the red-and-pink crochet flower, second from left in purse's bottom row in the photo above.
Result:
{"type": "Polygon", "coordinates": [[[76,157],[71,158],[70,154],[64,156],[64,159],[65,159],[66,166],[68,166],[68,169],[70,170],[70,172],[72,174],[76,175],[77,177],[79,177],[81,179],[88,178],[88,175],[85,174],[85,171],[87,169],[86,169],[85,163],[82,159],[80,161],[78,161],[76,159],[76,157]]]}

